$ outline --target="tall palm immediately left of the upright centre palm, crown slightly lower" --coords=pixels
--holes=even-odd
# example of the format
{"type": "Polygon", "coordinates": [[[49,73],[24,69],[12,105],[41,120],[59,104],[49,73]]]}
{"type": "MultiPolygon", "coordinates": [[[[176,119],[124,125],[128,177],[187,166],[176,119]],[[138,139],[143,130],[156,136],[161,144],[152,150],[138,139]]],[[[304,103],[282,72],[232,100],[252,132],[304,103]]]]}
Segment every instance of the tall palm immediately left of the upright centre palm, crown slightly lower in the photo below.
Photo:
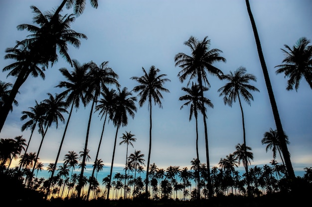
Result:
{"type": "Polygon", "coordinates": [[[124,87],[122,90],[118,88],[117,94],[115,97],[115,102],[114,102],[115,104],[113,106],[113,111],[114,111],[113,123],[116,127],[116,135],[115,135],[112,164],[111,164],[108,191],[107,191],[107,199],[109,199],[109,196],[110,196],[110,187],[111,187],[111,181],[112,181],[112,173],[113,173],[113,166],[114,166],[118,130],[121,126],[124,127],[128,125],[128,114],[132,118],[134,118],[135,112],[137,112],[135,101],[137,101],[137,98],[132,96],[132,93],[128,91],[127,87],[124,87]]]}

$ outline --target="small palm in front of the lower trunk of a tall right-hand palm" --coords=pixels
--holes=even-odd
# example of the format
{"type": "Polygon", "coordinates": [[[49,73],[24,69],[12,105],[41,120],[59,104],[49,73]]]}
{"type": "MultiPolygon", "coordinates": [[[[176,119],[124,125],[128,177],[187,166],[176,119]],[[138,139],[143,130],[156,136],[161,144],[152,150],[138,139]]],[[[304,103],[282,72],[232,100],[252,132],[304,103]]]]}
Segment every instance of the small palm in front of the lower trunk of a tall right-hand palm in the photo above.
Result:
{"type": "MultiPolygon", "coordinates": [[[[252,152],[247,151],[247,150],[252,150],[250,146],[246,146],[245,143],[243,144],[237,144],[235,146],[236,151],[233,153],[235,158],[238,159],[238,164],[240,164],[240,161],[243,161],[243,166],[245,167],[245,171],[246,171],[246,176],[248,176],[248,163],[251,164],[250,159],[254,159],[254,155],[252,152]]],[[[250,194],[250,188],[249,186],[249,178],[247,177],[247,192],[248,194],[250,194]]]]}

